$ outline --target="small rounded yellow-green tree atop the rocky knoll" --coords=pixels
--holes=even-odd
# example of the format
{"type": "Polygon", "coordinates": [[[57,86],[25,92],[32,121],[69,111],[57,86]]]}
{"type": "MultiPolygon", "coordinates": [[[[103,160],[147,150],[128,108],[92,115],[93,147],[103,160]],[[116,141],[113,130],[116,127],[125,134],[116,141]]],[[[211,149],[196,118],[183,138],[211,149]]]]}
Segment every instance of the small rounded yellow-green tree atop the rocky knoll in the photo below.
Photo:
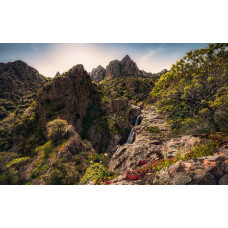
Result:
{"type": "Polygon", "coordinates": [[[67,121],[61,119],[55,119],[47,124],[48,138],[55,143],[63,137],[66,132],[67,121]]]}

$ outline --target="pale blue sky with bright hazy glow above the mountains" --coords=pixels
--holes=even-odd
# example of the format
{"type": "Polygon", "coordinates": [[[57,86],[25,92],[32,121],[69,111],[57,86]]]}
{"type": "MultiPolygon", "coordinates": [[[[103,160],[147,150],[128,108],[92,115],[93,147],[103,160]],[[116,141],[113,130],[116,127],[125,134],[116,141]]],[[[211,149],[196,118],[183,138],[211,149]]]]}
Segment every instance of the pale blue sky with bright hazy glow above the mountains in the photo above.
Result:
{"type": "Polygon", "coordinates": [[[169,69],[186,52],[206,47],[206,43],[2,43],[0,62],[22,60],[40,74],[54,77],[76,64],[91,70],[98,65],[106,67],[110,61],[129,55],[140,70],[151,73],[169,69]]]}

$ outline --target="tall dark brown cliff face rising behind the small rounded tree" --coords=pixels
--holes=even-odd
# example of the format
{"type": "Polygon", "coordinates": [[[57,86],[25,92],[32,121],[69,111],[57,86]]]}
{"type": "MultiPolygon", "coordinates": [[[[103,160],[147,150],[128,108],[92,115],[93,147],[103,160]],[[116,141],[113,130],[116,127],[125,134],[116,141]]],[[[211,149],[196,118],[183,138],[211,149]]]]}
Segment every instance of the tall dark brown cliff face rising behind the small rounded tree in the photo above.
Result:
{"type": "Polygon", "coordinates": [[[94,86],[82,65],[54,78],[38,94],[38,112],[45,124],[60,116],[80,133],[86,109],[94,98],[94,86]]]}

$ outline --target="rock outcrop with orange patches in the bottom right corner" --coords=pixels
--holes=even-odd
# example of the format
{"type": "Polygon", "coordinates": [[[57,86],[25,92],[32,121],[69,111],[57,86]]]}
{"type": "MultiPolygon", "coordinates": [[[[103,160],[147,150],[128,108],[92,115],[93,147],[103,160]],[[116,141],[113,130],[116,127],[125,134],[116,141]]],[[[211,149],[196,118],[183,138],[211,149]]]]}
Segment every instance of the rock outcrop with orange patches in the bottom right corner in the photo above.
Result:
{"type": "Polygon", "coordinates": [[[159,171],[148,184],[227,185],[228,149],[221,147],[215,155],[179,161],[159,171]]]}

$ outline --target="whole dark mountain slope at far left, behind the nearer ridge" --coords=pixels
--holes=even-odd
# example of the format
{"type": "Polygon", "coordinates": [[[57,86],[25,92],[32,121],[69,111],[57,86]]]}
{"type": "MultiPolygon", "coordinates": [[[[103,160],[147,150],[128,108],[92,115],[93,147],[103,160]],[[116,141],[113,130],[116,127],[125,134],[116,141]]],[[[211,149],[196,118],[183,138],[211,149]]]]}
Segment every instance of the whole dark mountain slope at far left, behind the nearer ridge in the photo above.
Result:
{"type": "Polygon", "coordinates": [[[22,61],[0,63],[0,120],[10,112],[29,106],[47,78],[22,61]]]}

